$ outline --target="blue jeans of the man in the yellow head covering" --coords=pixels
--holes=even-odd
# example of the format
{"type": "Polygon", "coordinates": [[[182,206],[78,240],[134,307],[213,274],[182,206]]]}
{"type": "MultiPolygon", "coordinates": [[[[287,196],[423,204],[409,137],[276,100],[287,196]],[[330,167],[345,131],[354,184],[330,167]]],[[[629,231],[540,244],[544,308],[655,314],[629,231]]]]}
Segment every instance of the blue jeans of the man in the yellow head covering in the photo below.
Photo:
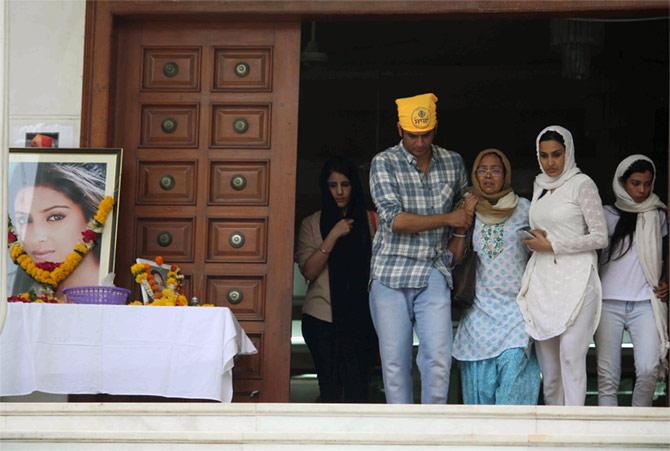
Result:
{"type": "Polygon", "coordinates": [[[414,402],[412,330],[419,337],[416,358],[421,402],[446,404],[451,370],[451,291],[433,269],[425,288],[389,288],[377,280],[370,289],[372,322],[379,337],[384,391],[389,404],[414,402]]]}

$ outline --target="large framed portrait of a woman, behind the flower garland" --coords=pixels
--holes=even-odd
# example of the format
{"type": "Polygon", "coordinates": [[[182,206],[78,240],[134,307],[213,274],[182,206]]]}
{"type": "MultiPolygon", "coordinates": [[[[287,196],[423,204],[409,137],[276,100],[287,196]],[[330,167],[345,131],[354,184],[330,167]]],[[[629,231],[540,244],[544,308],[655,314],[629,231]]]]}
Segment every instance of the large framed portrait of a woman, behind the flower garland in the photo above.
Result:
{"type": "MultiPolygon", "coordinates": [[[[58,267],[83,240],[90,241],[92,218],[101,211],[103,199],[114,199],[102,233],[94,235],[95,246],[60,282],[58,294],[73,286],[99,285],[114,272],[121,161],[122,149],[9,150],[10,232],[39,267],[58,267]]],[[[34,288],[37,282],[14,264],[9,252],[7,258],[8,294],[34,288]]]]}

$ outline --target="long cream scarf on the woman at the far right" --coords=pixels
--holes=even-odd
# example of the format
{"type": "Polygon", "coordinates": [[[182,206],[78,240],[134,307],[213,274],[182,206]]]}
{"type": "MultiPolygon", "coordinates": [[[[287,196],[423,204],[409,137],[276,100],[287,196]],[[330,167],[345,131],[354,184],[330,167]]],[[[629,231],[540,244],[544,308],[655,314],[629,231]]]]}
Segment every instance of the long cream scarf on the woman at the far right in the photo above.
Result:
{"type": "MultiPolygon", "coordinates": [[[[656,181],[656,166],[654,162],[644,155],[631,155],[624,159],[616,169],[614,179],[612,180],[612,188],[616,195],[616,202],[614,205],[620,210],[630,213],[637,213],[637,222],[635,224],[635,233],[633,234],[633,247],[640,260],[644,278],[652,287],[658,286],[658,281],[661,278],[661,271],[663,265],[662,256],[662,237],[661,237],[661,219],[656,210],[659,208],[665,209],[666,206],[653,193],[654,182],[656,181]],[[621,178],[628,168],[636,161],[644,160],[651,163],[654,168],[654,178],[651,182],[652,193],[644,202],[637,203],[630,197],[630,194],[624,187],[625,180],[622,182],[621,178]]],[[[654,320],[656,323],[656,331],[658,332],[661,348],[659,350],[659,359],[661,360],[661,376],[665,374],[667,368],[667,354],[670,349],[668,342],[668,306],[661,302],[656,295],[651,293],[651,307],[654,312],[654,320]]]]}

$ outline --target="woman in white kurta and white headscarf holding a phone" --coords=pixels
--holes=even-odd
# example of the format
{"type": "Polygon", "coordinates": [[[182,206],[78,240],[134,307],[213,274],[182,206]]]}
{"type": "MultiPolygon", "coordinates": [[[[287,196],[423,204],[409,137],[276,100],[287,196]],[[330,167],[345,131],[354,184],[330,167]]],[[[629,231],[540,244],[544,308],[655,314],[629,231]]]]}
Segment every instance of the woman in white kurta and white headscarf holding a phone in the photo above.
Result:
{"type": "Polygon", "coordinates": [[[525,241],[533,254],[517,302],[536,340],[545,404],[584,405],[586,353],[602,303],[596,250],[607,246],[607,225],[598,188],[575,164],[572,134],[547,127],[536,150],[535,238],[525,241]]]}

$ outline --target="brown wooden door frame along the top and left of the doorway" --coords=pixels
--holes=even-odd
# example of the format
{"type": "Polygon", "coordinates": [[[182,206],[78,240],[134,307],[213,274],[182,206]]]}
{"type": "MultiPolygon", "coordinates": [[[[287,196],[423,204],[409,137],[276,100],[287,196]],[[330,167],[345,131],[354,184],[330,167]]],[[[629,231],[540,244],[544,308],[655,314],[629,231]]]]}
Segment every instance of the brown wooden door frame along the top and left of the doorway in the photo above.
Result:
{"type": "MultiPolygon", "coordinates": [[[[670,12],[667,0],[453,0],[415,1],[335,0],[269,1],[219,0],[146,2],[118,0],[86,0],[86,28],[84,37],[84,73],[80,143],[82,147],[110,147],[114,145],[115,73],[114,46],[117,24],[131,17],[190,19],[246,20],[254,22],[303,21],[328,17],[329,19],[398,20],[495,16],[598,16],[665,15],[670,12]]],[[[297,136],[297,121],[295,124],[297,136]]],[[[296,143],[297,145],[297,143],[296,143]]],[[[669,146],[670,147],[670,146],[669,146]]],[[[670,170],[670,164],[668,167],[670,170]]],[[[295,199],[287,199],[295,204],[295,199]]],[[[292,228],[292,227],[291,227],[292,228]]],[[[288,290],[292,280],[286,281],[288,290]]],[[[282,290],[284,291],[284,290],[282,290]]],[[[290,309],[289,309],[290,311],[290,309]]],[[[290,325],[290,318],[279,321],[290,325]]],[[[284,328],[286,329],[286,327],[284,328]]],[[[289,333],[290,335],[290,333],[289,333]]],[[[670,373],[668,373],[670,375],[670,373]]],[[[669,378],[670,379],[670,378],[669,378]]],[[[666,386],[667,387],[667,386],[666,386]]],[[[667,388],[666,388],[667,389],[667,388]]],[[[288,387],[279,389],[286,392],[288,387]]],[[[670,396],[668,396],[670,405],[670,396]]]]}

